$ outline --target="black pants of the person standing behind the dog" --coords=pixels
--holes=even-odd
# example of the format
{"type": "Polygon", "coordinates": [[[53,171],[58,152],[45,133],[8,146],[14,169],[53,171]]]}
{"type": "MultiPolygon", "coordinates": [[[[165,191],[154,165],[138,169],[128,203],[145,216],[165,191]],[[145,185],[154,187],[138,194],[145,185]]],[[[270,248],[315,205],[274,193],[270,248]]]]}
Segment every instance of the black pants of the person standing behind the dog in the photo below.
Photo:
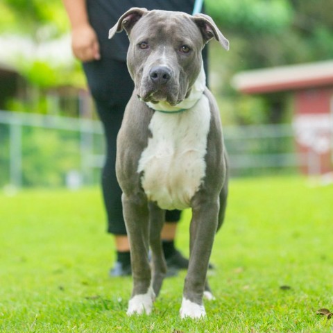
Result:
{"type": "MultiPolygon", "coordinates": [[[[90,92],[103,123],[106,140],[106,158],[102,172],[102,189],[108,216],[108,232],[126,234],[121,206],[121,189],[115,171],[117,134],[123,112],[133,92],[134,84],[125,62],[110,58],[83,64],[90,92]]],[[[180,212],[166,213],[166,220],[176,222],[180,212]]]]}

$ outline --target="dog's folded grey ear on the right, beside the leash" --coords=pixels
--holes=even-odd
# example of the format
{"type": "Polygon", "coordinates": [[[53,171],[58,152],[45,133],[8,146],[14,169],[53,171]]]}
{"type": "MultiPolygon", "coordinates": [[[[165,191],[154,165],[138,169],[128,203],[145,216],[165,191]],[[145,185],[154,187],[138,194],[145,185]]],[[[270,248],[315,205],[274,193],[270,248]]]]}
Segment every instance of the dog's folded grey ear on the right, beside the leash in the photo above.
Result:
{"type": "Polygon", "coordinates": [[[193,16],[193,20],[200,29],[205,43],[215,38],[227,51],[229,50],[229,41],[223,36],[212,17],[205,14],[196,14],[193,16]]]}

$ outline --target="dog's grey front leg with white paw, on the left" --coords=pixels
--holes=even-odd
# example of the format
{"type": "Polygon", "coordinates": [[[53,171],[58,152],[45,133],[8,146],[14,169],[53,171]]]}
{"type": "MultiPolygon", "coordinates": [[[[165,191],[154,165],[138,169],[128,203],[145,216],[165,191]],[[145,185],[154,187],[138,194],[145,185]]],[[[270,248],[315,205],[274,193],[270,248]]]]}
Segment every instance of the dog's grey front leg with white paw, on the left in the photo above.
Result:
{"type": "Polygon", "coordinates": [[[148,262],[148,205],[144,194],[123,194],[122,202],[133,273],[133,291],[127,314],[150,314],[155,294],[151,287],[151,268],[148,262]]]}

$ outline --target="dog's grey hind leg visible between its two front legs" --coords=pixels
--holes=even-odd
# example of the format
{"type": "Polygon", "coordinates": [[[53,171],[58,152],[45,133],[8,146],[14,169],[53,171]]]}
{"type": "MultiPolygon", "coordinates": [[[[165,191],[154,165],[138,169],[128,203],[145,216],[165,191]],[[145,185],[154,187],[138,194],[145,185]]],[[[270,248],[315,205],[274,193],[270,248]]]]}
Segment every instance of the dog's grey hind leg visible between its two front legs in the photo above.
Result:
{"type": "Polygon", "coordinates": [[[161,231],[165,219],[165,211],[151,203],[150,212],[150,244],[151,244],[151,262],[153,266],[153,290],[158,296],[162,287],[162,282],[167,273],[167,264],[164,259],[162,249],[161,231]]]}

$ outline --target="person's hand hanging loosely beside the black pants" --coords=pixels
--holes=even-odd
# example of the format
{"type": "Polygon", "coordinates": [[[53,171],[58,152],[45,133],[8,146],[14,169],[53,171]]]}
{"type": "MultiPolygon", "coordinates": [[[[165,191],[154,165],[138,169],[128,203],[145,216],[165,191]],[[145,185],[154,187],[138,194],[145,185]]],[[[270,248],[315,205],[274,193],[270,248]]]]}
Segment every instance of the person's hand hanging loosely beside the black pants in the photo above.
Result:
{"type": "Polygon", "coordinates": [[[89,24],[79,26],[71,31],[71,49],[74,56],[82,62],[99,60],[99,40],[89,24]]]}

